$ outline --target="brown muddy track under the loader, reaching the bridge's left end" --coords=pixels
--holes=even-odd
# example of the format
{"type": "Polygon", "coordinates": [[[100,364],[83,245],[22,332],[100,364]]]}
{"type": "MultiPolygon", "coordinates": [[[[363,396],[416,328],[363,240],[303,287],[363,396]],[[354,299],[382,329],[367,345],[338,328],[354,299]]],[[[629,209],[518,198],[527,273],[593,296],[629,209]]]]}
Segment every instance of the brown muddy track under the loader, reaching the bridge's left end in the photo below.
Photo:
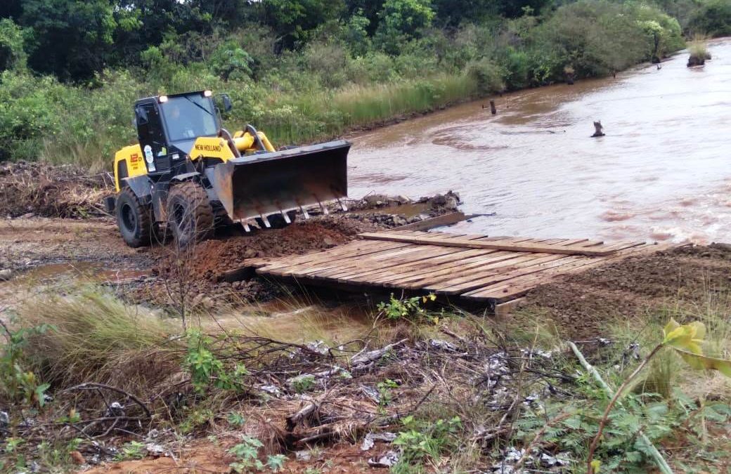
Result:
{"type": "MultiPolygon", "coordinates": [[[[33,172],[17,164],[7,169],[12,170],[13,179],[21,172],[29,173],[23,180],[30,179],[33,172]]],[[[84,199],[101,199],[100,194],[79,191],[85,186],[84,180],[76,179],[69,170],[48,169],[59,179],[63,177],[61,183],[69,186],[75,183],[74,193],[68,196],[83,194],[84,199]]],[[[86,209],[63,204],[61,200],[52,204],[56,197],[31,193],[15,204],[5,203],[14,210],[10,212],[11,217],[0,219],[0,281],[28,283],[29,288],[91,281],[111,286],[121,297],[138,304],[175,308],[185,302],[186,307],[202,304],[205,309],[219,304],[266,301],[283,291],[289,292],[287,288],[257,278],[234,283],[221,280],[221,274],[242,267],[247,259],[330,248],[354,239],[360,232],[374,232],[452,212],[458,202],[454,194],[419,202],[403,196],[367,196],[350,200],[347,213],[331,207],[328,215],[313,211],[310,220],[299,216],[299,221],[284,229],[254,228],[249,233],[230,226],[217,231],[212,240],[178,251],[172,243],[128,248],[119,237],[113,218],[89,218],[88,209],[83,211],[87,216],[84,219],[37,217],[78,216],[80,210],[86,209]],[[12,218],[26,210],[31,212],[12,218]],[[181,289],[181,283],[185,288],[181,289]]],[[[94,201],[97,204],[101,206],[94,201]]],[[[0,283],[1,286],[7,285],[0,283]]]]}

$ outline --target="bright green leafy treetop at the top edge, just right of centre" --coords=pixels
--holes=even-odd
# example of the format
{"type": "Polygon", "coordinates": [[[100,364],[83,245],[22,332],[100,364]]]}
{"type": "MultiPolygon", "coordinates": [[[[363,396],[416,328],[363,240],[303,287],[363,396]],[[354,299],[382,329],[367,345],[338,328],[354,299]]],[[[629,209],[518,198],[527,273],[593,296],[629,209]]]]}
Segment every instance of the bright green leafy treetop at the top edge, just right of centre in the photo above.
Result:
{"type": "Polygon", "coordinates": [[[386,0],[379,12],[376,42],[389,54],[398,54],[404,42],[421,36],[431,26],[430,0],[386,0]]]}

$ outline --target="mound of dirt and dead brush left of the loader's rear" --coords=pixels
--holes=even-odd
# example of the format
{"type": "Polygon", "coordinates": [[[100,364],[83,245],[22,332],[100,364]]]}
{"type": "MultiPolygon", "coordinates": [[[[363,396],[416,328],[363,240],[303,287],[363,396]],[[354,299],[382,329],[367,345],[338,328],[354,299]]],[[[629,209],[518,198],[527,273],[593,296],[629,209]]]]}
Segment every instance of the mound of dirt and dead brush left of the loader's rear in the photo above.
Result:
{"type": "Polygon", "coordinates": [[[110,178],[70,165],[4,164],[0,167],[0,215],[86,218],[107,215],[102,198],[113,193],[110,178]]]}

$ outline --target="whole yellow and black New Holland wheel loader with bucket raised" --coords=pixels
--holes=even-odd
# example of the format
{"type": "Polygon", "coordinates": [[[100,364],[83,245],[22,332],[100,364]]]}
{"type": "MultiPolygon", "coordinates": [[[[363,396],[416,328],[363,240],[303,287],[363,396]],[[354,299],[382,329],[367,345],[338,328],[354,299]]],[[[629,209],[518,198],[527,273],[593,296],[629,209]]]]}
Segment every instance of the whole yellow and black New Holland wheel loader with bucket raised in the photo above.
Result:
{"type": "Polygon", "coordinates": [[[325,204],[347,196],[349,142],[277,151],[251,125],[221,128],[220,109],[230,110],[231,99],[211,91],[135,102],[139,143],[115,154],[117,194],[106,202],[127,245],[149,245],[169,230],[185,246],[219,222],[247,232],[253,223],[284,226],[298,211],[308,218],[319,205],[327,213],[325,204]]]}

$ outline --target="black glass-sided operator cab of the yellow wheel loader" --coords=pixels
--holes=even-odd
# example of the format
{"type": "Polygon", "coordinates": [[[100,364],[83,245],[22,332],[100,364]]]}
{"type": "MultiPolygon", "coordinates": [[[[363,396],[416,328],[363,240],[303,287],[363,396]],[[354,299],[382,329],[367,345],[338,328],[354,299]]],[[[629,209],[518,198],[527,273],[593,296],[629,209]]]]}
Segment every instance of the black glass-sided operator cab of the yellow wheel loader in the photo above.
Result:
{"type": "MultiPolygon", "coordinates": [[[[226,108],[230,108],[227,96],[226,108]]],[[[221,128],[211,91],[156,96],[135,102],[137,138],[148,173],[176,175],[198,137],[216,137],[221,128]]]]}

